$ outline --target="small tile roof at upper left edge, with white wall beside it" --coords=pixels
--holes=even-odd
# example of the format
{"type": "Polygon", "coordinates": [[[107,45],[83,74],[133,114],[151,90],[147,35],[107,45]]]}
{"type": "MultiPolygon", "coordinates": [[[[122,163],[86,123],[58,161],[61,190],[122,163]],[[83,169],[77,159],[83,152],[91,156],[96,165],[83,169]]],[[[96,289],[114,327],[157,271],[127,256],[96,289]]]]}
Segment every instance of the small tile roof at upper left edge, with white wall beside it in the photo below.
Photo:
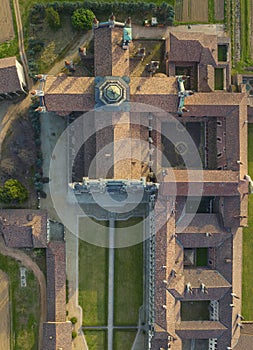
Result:
{"type": "Polygon", "coordinates": [[[0,94],[21,90],[16,57],[0,59],[0,94]]]}

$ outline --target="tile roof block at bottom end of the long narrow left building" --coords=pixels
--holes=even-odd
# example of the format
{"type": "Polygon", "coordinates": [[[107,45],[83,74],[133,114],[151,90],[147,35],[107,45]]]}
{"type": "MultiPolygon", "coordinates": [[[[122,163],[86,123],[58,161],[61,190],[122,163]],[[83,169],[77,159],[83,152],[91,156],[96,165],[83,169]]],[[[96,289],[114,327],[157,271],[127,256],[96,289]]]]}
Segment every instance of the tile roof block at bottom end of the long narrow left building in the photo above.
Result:
{"type": "Polygon", "coordinates": [[[72,348],[71,322],[43,324],[43,350],[71,350],[72,348]]]}

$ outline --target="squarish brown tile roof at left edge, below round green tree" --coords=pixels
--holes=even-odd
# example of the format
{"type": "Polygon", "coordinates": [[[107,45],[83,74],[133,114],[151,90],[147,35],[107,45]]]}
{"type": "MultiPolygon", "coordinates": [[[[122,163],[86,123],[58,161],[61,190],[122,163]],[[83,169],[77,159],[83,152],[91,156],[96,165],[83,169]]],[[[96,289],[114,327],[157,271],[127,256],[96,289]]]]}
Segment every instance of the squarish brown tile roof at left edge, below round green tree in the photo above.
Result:
{"type": "Polygon", "coordinates": [[[43,210],[0,210],[0,233],[6,245],[15,248],[47,246],[47,213],[43,210]]]}

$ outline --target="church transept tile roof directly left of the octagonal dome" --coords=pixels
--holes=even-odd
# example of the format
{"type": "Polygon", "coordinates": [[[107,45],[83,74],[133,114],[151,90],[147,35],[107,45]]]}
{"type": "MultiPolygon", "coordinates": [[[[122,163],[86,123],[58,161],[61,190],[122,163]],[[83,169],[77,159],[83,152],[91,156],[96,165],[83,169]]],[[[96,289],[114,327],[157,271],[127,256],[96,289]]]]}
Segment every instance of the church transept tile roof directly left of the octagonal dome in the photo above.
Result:
{"type": "Polygon", "coordinates": [[[47,77],[45,104],[48,111],[88,111],[94,108],[94,78],[47,77]]]}

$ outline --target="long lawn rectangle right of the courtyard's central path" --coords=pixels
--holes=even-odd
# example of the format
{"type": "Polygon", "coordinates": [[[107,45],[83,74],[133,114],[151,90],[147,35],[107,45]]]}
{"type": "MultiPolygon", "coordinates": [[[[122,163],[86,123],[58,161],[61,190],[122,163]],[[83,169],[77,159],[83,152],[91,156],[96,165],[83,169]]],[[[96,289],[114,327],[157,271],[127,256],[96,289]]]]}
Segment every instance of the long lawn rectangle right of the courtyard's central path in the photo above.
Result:
{"type": "MultiPolygon", "coordinates": [[[[131,218],[116,222],[117,230],[122,225],[137,223],[131,218]]],[[[143,230],[143,225],[136,226],[143,230]]],[[[114,324],[137,325],[139,308],[143,303],[143,244],[115,249],[114,274],[114,324]]]]}

